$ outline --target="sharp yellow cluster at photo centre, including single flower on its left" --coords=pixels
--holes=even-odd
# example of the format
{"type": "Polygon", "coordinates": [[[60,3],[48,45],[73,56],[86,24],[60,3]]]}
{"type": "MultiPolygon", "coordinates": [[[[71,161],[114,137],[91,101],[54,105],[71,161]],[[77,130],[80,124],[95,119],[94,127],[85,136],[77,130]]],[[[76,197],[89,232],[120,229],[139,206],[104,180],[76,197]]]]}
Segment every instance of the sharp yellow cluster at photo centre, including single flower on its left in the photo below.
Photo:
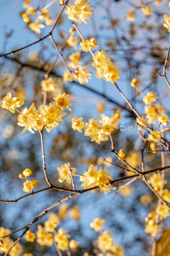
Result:
{"type": "Polygon", "coordinates": [[[82,119],[82,117],[78,119],[72,117],[72,128],[74,131],[78,130],[79,132],[82,132],[82,129],[85,128],[85,136],[90,136],[91,141],[96,141],[98,144],[100,144],[101,141],[108,140],[106,136],[111,134],[113,128],[107,124],[98,124],[99,116],[95,120],[92,117],[86,124],[81,122],[82,119]]]}

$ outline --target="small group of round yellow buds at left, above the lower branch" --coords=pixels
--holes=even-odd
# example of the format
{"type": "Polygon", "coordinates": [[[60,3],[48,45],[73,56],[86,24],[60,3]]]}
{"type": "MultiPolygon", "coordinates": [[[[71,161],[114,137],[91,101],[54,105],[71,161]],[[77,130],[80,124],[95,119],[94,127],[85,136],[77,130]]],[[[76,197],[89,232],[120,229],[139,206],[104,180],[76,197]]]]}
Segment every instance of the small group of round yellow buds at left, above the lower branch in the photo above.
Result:
{"type": "Polygon", "coordinates": [[[34,187],[37,187],[38,184],[39,184],[39,181],[38,180],[33,180],[33,181],[30,181],[28,180],[28,176],[31,175],[31,170],[26,168],[22,173],[19,174],[19,178],[20,179],[23,179],[23,178],[26,178],[26,182],[24,182],[24,192],[29,192],[31,191],[34,187]]]}

